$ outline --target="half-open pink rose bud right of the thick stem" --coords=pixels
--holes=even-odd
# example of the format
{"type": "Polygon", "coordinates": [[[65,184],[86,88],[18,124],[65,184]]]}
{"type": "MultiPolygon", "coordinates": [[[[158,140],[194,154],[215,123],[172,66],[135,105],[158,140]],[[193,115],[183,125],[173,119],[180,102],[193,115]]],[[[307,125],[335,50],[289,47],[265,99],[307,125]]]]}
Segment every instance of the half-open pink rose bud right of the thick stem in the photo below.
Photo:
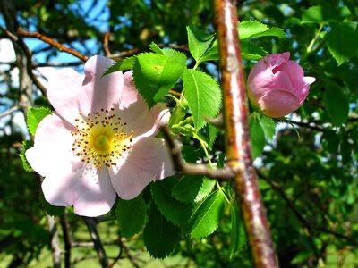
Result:
{"type": "Polygon", "coordinates": [[[297,110],[316,79],[303,76],[303,68],[289,61],[290,53],[270,54],[253,66],[248,78],[251,103],[269,117],[297,110]]]}

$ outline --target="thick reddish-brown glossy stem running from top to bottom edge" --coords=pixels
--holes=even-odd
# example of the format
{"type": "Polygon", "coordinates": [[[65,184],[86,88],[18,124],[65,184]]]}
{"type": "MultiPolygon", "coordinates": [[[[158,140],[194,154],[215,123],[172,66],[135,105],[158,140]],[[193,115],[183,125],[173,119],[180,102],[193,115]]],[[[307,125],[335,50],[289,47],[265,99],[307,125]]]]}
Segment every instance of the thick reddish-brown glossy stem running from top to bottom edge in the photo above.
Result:
{"type": "Polygon", "coordinates": [[[214,4],[224,95],[227,164],[235,172],[236,196],[239,197],[255,267],[274,268],[277,260],[251,156],[236,8],[234,1],[230,0],[215,0],[214,4]]]}

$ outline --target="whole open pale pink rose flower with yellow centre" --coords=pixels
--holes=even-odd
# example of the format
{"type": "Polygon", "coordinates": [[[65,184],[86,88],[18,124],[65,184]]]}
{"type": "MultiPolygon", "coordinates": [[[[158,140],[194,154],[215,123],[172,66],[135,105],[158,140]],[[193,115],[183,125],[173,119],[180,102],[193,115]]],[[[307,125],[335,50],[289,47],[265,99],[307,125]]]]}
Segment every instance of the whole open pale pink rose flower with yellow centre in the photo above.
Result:
{"type": "Polygon", "coordinates": [[[73,205],[76,214],[107,214],[116,195],[137,197],[150,181],[174,173],[165,140],[154,138],[169,119],[164,104],[148,105],[132,73],[102,74],[114,62],[94,56],[84,75],[58,71],[48,81],[55,112],[38,124],[35,145],[26,152],[45,177],[42,190],[52,205],[73,205]]]}

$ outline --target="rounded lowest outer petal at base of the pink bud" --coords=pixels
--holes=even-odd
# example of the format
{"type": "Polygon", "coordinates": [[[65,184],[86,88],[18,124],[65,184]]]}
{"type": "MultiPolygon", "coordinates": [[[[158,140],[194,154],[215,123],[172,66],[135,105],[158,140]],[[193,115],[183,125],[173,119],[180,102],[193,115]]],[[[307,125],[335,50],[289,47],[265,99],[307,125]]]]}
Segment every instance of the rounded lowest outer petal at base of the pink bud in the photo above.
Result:
{"type": "Polygon", "coordinates": [[[262,113],[269,117],[282,117],[292,113],[300,107],[299,99],[286,90],[273,90],[259,100],[262,113]]]}

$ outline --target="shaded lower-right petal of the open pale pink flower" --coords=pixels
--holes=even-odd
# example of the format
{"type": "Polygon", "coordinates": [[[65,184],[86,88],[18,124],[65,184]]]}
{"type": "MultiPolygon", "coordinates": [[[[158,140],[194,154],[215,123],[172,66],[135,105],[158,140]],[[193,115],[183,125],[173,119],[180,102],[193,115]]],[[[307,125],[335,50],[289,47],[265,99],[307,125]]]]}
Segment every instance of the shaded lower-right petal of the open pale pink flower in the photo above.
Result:
{"type": "Polygon", "coordinates": [[[141,138],[124,164],[119,169],[112,168],[109,174],[119,197],[137,197],[152,180],[160,180],[174,174],[165,140],[141,138]]]}

